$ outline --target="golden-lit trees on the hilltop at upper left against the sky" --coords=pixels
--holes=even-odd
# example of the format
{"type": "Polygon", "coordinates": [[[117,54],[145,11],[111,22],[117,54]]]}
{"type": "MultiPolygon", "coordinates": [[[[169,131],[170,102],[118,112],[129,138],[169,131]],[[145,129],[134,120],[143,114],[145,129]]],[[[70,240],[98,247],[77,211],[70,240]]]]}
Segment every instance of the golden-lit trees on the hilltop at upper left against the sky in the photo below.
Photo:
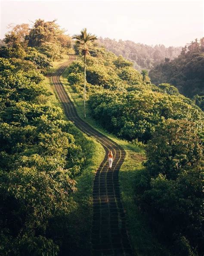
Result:
{"type": "Polygon", "coordinates": [[[15,25],[5,35],[0,57],[30,60],[37,68],[50,68],[50,62],[60,60],[70,48],[71,38],[64,34],[56,21],[38,19],[32,28],[28,24],[15,25]],[[39,67],[40,65],[40,67],[39,67]]]}

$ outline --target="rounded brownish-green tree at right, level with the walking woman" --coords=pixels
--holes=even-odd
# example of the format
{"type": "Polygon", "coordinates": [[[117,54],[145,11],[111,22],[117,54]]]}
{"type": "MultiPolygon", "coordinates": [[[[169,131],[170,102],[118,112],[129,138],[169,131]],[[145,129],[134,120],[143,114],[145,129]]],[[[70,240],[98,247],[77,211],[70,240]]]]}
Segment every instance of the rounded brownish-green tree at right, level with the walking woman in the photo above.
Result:
{"type": "Polygon", "coordinates": [[[167,120],[148,142],[146,166],[152,177],[158,174],[176,179],[179,172],[194,168],[202,156],[198,125],[185,120],[167,120]]]}

